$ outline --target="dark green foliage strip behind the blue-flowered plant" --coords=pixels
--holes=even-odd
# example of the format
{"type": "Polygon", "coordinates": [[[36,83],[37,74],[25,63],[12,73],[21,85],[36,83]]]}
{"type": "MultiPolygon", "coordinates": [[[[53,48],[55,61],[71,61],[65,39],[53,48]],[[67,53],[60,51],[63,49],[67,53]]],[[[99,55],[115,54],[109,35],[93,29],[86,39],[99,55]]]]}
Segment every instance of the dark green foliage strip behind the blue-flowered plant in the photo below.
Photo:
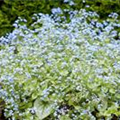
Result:
{"type": "Polygon", "coordinates": [[[12,24],[19,17],[28,20],[28,26],[33,22],[31,16],[33,13],[51,13],[52,8],[60,7],[62,9],[86,8],[96,11],[102,19],[106,18],[111,12],[120,14],[119,0],[4,0],[0,8],[0,36],[11,32],[14,27],[12,24]],[[73,1],[75,4],[71,5],[73,1]],[[86,7],[90,5],[90,7],[86,7]]]}

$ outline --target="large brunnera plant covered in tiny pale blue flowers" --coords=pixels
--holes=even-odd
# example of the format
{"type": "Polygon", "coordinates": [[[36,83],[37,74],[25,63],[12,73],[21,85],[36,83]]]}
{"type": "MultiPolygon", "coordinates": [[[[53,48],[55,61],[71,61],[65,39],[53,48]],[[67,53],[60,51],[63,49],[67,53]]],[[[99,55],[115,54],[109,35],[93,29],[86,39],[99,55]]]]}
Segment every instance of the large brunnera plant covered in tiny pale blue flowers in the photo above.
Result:
{"type": "Polygon", "coordinates": [[[95,12],[85,10],[68,12],[69,23],[57,14],[35,14],[31,29],[19,18],[16,29],[0,38],[6,118],[119,118],[120,41],[114,39],[119,21],[98,22],[95,12]]]}

